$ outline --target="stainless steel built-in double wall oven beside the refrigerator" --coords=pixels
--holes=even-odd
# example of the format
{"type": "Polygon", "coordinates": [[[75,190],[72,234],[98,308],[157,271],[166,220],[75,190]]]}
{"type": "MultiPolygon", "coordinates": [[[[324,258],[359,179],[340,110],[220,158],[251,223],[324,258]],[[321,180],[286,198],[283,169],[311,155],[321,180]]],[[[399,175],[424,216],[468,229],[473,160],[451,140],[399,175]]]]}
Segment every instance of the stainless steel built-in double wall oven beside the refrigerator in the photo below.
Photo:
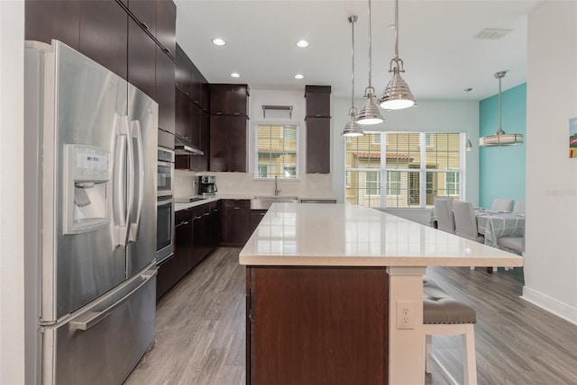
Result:
{"type": "Polygon", "coordinates": [[[174,253],[174,151],[158,149],[156,262],[174,253]]]}

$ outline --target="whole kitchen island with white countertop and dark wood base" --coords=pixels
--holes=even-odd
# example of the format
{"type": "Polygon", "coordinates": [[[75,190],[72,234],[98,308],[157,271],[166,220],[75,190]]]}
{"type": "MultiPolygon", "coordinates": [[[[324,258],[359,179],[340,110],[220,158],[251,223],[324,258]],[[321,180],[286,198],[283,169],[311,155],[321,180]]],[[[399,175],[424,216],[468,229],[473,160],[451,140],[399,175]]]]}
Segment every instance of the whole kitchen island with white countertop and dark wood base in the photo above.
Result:
{"type": "Polygon", "coordinates": [[[426,266],[522,265],[380,210],[295,203],[270,207],[239,261],[251,384],[424,383],[426,266]]]}

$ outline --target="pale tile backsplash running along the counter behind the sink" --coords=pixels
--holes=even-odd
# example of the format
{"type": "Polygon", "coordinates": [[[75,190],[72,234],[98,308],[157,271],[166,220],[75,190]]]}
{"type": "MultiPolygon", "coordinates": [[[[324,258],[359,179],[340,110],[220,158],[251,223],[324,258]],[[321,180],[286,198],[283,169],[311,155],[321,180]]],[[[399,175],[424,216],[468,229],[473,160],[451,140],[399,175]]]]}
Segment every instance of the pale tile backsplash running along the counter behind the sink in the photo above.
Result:
{"type": "MultiPolygon", "coordinates": [[[[224,195],[274,195],[274,181],[256,180],[252,173],[197,173],[175,170],[175,193],[177,198],[197,195],[197,175],[215,175],[218,193],[224,195]]],[[[296,181],[279,180],[279,195],[298,197],[333,198],[331,175],[306,174],[296,181]]]]}

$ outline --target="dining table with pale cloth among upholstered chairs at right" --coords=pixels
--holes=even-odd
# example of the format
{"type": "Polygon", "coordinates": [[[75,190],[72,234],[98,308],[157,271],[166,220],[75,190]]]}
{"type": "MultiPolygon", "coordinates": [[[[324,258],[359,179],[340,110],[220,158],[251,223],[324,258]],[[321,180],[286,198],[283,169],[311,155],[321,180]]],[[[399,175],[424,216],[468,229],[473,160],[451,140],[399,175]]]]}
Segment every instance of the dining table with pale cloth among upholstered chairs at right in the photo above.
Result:
{"type": "Polygon", "coordinates": [[[499,237],[523,237],[525,214],[515,212],[475,209],[477,231],[485,236],[485,245],[498,247],[499,237]]]}

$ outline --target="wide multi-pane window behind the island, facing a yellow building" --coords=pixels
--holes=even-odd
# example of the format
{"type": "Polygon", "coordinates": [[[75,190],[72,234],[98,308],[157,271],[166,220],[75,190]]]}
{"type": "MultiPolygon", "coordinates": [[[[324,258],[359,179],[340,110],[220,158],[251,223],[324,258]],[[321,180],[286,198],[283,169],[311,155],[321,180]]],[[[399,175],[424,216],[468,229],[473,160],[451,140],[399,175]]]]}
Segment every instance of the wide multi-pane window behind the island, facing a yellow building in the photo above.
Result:
{"type": "Polygon", "coordinates": [[[459,199],[462,135],[369,132],[347,139],[346,202],[369,207],[424,208],[431,207],[437,195],[459,199]]]}

